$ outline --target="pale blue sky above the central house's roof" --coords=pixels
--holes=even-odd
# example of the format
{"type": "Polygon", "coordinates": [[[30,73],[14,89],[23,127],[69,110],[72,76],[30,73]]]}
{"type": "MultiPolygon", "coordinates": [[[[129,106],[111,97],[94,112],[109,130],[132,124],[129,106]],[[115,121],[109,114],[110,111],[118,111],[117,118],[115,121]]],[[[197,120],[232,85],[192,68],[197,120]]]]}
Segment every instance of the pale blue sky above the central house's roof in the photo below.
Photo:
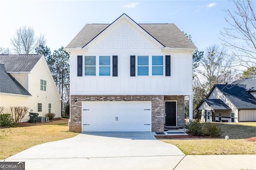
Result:
{"type": "Polygon", "coordinates": [[[220,31],[227,26],[224,8],[228,0],[0,0],[0,47],[9,47],[20,26],[31,26],[36,36],[44,34],[53,52],[66,46],[89,23],[110,24],[126,13],[138,24],[174,23],[191,34],[199,50],[222,43],[220,31]]]}

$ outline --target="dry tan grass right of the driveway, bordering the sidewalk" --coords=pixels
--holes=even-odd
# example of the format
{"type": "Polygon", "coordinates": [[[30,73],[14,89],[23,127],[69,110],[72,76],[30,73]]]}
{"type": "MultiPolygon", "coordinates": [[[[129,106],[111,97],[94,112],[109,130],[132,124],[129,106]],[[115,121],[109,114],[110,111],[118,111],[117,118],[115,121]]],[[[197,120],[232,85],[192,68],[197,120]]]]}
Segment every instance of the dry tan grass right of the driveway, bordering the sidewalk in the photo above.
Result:
{"type": "Polygon", "coordinates": [[[162,140],[176,145],[186,155],[256,154],[256,142],[244,139],[162,140]]]}

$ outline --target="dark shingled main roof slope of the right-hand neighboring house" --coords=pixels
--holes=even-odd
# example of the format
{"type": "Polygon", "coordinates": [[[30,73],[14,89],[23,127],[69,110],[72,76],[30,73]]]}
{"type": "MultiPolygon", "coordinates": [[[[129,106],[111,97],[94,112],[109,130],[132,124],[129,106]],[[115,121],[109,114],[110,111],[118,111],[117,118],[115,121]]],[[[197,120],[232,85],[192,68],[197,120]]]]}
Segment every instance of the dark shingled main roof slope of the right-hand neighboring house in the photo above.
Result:
{"type": "Polygon", "coordinates": [[[215,87],[222,91],[237,109],[256,109],[256,98],[246,91],[246,85],[215,85],[215,87]]]}

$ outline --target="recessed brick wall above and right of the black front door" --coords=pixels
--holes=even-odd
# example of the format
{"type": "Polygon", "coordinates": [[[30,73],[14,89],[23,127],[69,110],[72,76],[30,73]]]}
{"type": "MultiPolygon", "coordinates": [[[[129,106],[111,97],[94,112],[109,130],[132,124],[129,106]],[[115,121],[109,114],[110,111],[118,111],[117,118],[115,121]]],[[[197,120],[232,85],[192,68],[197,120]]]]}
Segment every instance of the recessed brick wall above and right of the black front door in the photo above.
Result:
{"type": "Polygon", "coordinates": [[[177,101],[177,128],[185,127],[184,96],[164,96],[164,101],[177,101]]]}

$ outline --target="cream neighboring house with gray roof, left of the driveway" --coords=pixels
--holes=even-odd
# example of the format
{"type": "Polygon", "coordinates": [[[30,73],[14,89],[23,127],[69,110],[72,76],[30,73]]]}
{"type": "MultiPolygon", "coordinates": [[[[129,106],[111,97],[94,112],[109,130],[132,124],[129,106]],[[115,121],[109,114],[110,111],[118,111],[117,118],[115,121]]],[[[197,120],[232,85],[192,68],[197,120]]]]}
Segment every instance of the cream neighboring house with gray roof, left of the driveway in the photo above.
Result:
{"type": "MultiPolygon", "coordinates": [[[[0,55],[0,107],[26,106],[29,112],[61,117],[61,97],[44,55],[0,55]]],[[[28,114],[22,119],[27,121],[28,114]]]]}

